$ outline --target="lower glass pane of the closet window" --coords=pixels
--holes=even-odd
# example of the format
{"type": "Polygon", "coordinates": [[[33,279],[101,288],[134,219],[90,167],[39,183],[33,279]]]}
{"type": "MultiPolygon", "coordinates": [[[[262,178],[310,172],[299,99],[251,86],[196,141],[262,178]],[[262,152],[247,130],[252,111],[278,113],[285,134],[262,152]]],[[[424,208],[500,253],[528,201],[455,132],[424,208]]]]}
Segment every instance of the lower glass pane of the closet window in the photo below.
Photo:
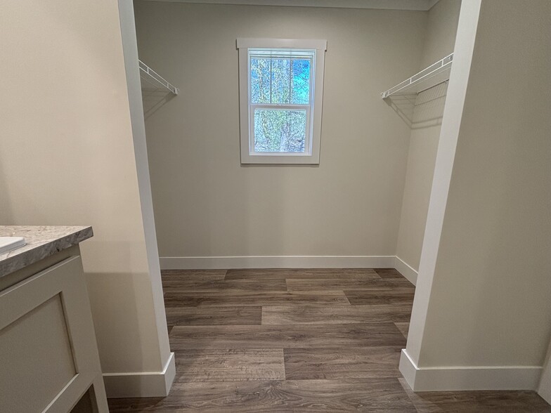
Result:
{"type": "Polygon", "coordinates": [[[304,152],[306,110],[254,110],[254,152],[304,152]]]}

